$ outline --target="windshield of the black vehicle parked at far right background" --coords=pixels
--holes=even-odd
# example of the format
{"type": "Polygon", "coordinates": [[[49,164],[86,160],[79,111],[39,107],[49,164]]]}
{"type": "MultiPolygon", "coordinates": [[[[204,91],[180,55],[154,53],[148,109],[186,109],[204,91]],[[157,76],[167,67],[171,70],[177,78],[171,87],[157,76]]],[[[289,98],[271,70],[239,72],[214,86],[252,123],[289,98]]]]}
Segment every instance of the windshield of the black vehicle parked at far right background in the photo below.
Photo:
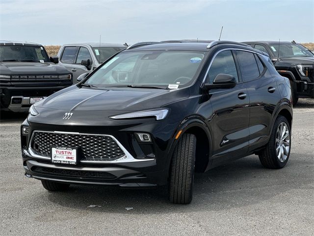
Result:
{"type": "Polygon", "coordinates": [[[275,56],[278,56],[279,49],[279,58],[294,58],[294,57],[314,57],[314,54],[311,53],[307,48],[303,47],[301,44],[270,44],[275,56]]]}

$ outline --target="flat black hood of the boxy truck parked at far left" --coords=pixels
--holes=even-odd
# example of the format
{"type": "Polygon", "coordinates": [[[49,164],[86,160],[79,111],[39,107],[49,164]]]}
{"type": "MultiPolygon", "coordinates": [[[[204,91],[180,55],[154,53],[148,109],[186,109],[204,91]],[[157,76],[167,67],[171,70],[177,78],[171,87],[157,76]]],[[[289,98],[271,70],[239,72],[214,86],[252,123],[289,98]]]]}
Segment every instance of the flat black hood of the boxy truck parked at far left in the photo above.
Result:
{"type": "Polygon", "coordinates": [[[1,62],[0,73],[6,75],[70,74],[64,66],[40,62],[1,62]]]}

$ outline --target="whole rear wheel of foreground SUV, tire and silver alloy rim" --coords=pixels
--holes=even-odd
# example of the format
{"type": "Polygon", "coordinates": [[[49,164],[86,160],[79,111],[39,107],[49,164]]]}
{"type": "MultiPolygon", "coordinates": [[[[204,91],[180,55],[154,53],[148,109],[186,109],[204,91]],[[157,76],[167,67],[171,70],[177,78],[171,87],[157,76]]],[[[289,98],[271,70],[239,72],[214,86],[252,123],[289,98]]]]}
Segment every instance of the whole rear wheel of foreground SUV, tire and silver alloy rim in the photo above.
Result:
{"type": "Polygon", "coordinates": [[[288,120],[278,116],[271,132],[269,142],[260,152],[262,165],[270,169],[283,168],[289,159],[291,147],[291,131],[288,120]]]}

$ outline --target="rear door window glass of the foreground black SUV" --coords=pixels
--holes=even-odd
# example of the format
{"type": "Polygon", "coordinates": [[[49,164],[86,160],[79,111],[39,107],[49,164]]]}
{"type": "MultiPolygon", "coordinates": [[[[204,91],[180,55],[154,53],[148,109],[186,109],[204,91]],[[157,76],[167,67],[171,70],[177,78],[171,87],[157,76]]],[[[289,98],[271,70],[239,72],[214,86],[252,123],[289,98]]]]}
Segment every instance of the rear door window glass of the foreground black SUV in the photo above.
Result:
{"type": "Polygon", "coordinates": [[[260,76],[259,67],[253,53],[236,51],[243,82],[254,80],[260,76]]]}

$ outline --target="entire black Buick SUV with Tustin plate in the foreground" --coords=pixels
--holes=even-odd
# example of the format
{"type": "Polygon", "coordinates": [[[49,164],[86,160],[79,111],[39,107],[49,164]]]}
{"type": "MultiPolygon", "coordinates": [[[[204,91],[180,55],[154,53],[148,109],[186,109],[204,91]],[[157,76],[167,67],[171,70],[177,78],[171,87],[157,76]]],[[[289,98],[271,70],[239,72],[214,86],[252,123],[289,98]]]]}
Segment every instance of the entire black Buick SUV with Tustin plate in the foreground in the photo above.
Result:
{"type": "Polygon", "coordinates": [[[25,174],[70,184],[152,187],[192,200],[194,171],[257,154],[278,169],[290,153],[291,91],[268,56],[229,41],[146,42],[30,108],[25,174]]]}

